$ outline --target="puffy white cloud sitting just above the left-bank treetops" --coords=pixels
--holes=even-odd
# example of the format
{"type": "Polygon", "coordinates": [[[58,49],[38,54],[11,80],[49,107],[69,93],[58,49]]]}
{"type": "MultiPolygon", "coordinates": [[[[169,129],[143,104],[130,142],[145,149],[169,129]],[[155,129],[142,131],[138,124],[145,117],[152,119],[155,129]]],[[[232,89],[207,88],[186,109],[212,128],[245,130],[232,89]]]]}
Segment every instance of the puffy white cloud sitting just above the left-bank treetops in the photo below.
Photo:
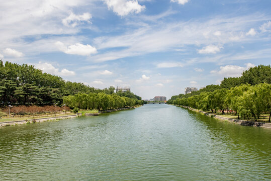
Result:
{"type": "Polygon", "coordinates": [[[61,76],[72,76],[75,75],[74,71],[70,71],[66,68],[63,68],[61,71],[59,71],[59,68],[55,68],[50,63],[42,63],[41,61],[35,65],[36,68],[41,69],[43,72],[54,74],[54,75],[61,75],[61,76]]]}

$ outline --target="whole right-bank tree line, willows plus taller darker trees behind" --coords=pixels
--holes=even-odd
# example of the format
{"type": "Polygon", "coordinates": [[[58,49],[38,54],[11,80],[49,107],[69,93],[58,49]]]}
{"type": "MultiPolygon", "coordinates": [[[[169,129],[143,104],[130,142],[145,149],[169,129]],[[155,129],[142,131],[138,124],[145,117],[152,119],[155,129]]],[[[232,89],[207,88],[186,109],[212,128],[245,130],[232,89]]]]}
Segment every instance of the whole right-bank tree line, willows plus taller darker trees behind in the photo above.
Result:
{"type": "Polygon", "coordinates": [[[251,67],[240,77],[224,78],[220,85],[207,85],[197,92],[172,96],[168,104],[189,106],[203,111],[233,111],[238,118],[255,120],[261,114],[271,117],[270,65],[251,67]]]}

